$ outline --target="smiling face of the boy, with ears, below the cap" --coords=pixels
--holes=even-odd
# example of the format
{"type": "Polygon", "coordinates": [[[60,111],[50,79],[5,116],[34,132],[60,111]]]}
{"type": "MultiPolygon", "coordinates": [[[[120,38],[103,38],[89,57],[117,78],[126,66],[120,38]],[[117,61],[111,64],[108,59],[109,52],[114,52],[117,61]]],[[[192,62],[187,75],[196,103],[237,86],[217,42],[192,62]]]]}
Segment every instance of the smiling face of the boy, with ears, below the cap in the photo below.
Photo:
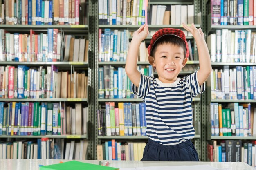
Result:
{"type": "Polygon", "coordinates": [[[187,58],[184,49],[179,45],[164,43],[158,45],[154,57],[149,56],[150,64],[156,68],[162,83],[173,83],[185,66],[187,58]]]}

